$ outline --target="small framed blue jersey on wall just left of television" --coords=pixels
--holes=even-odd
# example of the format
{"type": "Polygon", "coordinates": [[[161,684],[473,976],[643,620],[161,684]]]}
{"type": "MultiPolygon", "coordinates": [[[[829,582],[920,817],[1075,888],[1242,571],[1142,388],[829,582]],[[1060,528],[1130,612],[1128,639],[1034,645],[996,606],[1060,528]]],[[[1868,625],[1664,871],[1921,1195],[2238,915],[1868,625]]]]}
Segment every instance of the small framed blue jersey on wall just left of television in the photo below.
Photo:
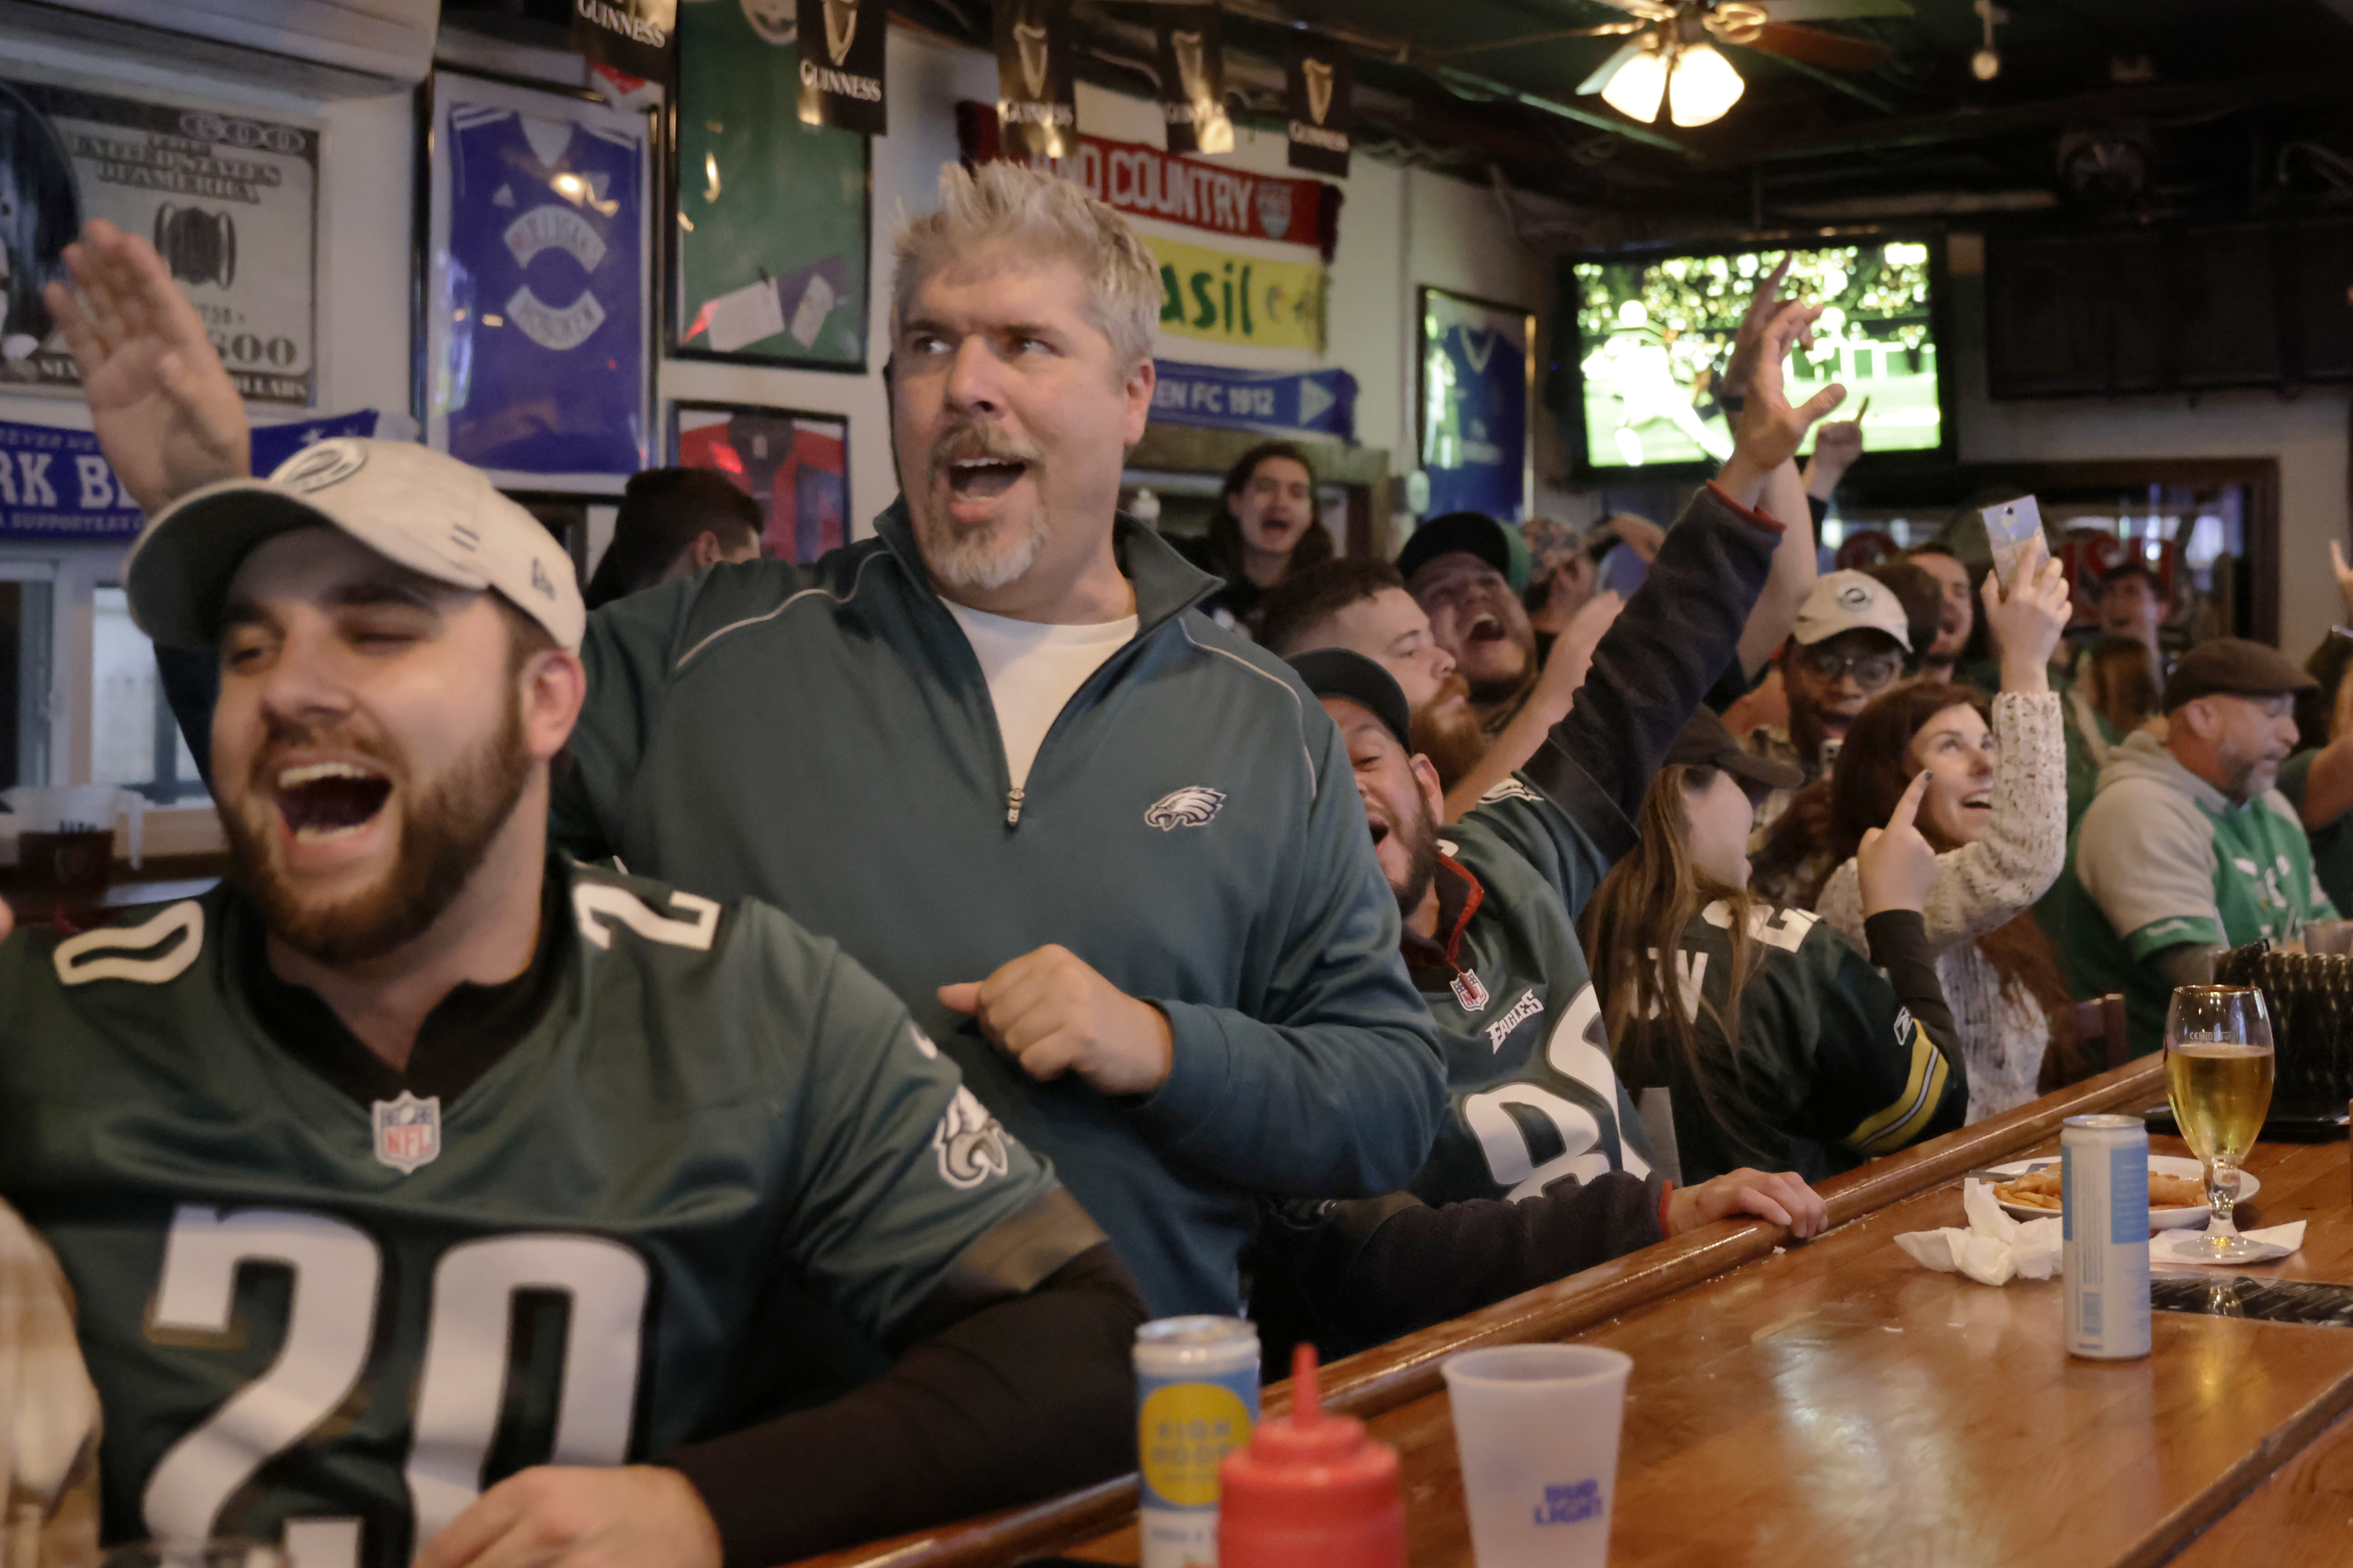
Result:
{"type": "Polygon", "coordinates": [[[1414,447],[1431,477],[1431,517],[1487,512],[1522,522],[1537,456],[1527,411],[1537,386],[1537,313],[1421,287],[1414,447]]]}

